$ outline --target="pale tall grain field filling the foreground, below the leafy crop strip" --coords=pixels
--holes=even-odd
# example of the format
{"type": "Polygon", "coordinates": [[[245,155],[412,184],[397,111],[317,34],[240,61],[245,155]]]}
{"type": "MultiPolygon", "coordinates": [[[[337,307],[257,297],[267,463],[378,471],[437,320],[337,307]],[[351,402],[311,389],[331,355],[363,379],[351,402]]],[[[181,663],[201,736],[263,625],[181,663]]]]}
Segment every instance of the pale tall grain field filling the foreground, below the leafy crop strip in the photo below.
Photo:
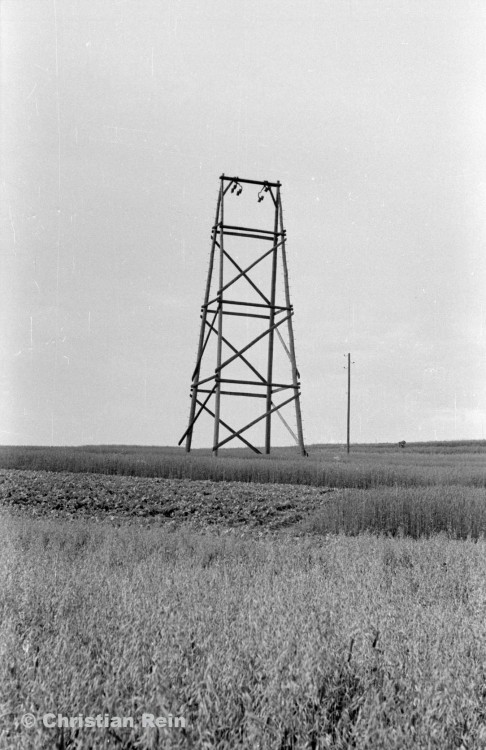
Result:
{"type": "Polygon", "coordinates": [[[486,747],[484,541],[1,521],[0,747],[486,747]]]}

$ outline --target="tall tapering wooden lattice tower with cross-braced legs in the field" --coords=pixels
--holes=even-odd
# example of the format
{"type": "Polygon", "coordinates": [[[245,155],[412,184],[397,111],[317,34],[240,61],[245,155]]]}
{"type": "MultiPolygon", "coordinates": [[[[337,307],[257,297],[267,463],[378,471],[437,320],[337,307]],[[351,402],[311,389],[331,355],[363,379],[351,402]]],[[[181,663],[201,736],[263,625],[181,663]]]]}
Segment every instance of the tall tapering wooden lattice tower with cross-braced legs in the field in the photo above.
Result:
{"type": "Polygon", "coordinates": [[[197,360],[192,374],[189,425],[179,440],[179,445],[182,444],[184,439],[186,440],[187,452],[191,450],[194,426],[201,414],[206,413],[214,421],[212,448],[214,455],[218,454],[218,449],[221,446],[226,445],[234,438],[238,438],[238,440],[251,448],[255,453],[261,453],[257,447],[244,437],[244,433],[263,420],[265,424],[265,453],[270,453],[272,415],[277,414],[292,434],[302,455],[307,455],[302,431],[300,375],[295,359],[292,327],[293,307],[290,304],[285,252],[286,233],[283,226],[280,187],[280,182],[243,180],[238,177],[226,177],[225,175],[220,177],[216,218],[211,233],[211,253],[206,291],[204,304],[201,308],[201,329],[197,360]],[[273,221],[270,229],[253,229],[225,222],[225,204],[227,206],[228,200],[232,200],[232,196],[239,196],[243,190],[243,186],[246,185],[259,188],[258,203],[263,201],[267,196],[273,202],[273,221]],[[230,191],[229,195],[227,195],[228,191],[230,191]],[[243,263],[243,267],[238,263],[239,256],[236,255],[235,249],[231,247],[232,243],[237,242],[235,238],[243,238],[245,240],[245,263],[243,263]],[[261,252],[260,248],[256,259],[248,264],[248,250],[251,244],[251,250],[253,251],[255,246],[254,241],[258,241],[260,245],[270,241],[271,247],[270,249],[265,249],[264,252],[261,252]],[[256,279],[255,273],[260,273],[261,275],[263,267],[267,269],[265,279],[256,279]],[[228,279],[229,271],[232,272],[232,275],[228,279]],[[281,294],[282,299],[280,300],[280,304],[278,304],[277,280],[280,282],[283,281],[283,293],[281,294]],[[242,285],[245,287],[244,289],[242,285]],[[252,295],[253,301],[248,301],[248,294],[252,295]],[[258,301],[255,301],[255,299],[258,301]],[[263,330],[259,330],[257,335],[250,336],[250,340],[242,345],[240,341],[242,333],[245,334],[246,332],[247,334],[249,326],[255,325],[256,320],[258,320],[260,326],[264,322],[265,327],[263,330]],[[233,332],[231,336],[233,341],[230,340],[230,321],[239,321],[240,328],[241,323],[244,323],[246,326],[246,331],[233,332]],[[282,336],[282,331],[285,332],[285,324],[287,340],[282,336]],[[275,377],[275,334],[286,354],[285,361],[287,361],[287,357],[290,360],[290,378],[285,377],[285,373],[279,372],[278,382],[275,377]],[[255,366],[255,362],[252,363],[248,359],[247,354],[253,358],[255,350],[259,348],[260,359],[262,359],[262,345],[264,347],[262,365],[255,366]],[[206,360],[209,359],[208,352],[211,346],[214,349],[213,355],[215,355],[215,357],[212,357],[212,363],[214,366],[215,358],[216,367],[210,375],[205,375],[203,365],[207,364],[206,360]],[[223,346],[225,347],[224,351],[223,346]],[[231,374],[231,366],[234,367],[235,363],[241,367],[244,366],[246,378],[242,379],[239,372],[237,373],[237,377],[228,377],[228,374],[231,374]],[[250,373],[253,376],[251,380],[249,379],[250,373]],[[239,386],[244,386],[245,390],[236,390],[239,386]],[[291,395],[284,398],[280,403],[275,403],[274,397],[276,394],[285,391],[287,391],[284,394],[285,396],[288,396],[289,391],[291,395]],[[222,398],[223,396],[224,399],[222,398]],[[226,411],[230,413],[229,408],[225,409],[225,419],[223,420],[222,418],[222,402],[224,400],[225,406],[229,406],[229,402],[234,401],[236,397],[264,399],[265,409],[256,418],[251,419],[242,427],[235,429],[226,421],[228,418],[226,417],[226,411]],[[289,427],[280,412],[283,407],[292,403],[295,406],[297,435],[289,427]],[[223,439],[220,437],[221,427],[229,433],[223,439]]]}

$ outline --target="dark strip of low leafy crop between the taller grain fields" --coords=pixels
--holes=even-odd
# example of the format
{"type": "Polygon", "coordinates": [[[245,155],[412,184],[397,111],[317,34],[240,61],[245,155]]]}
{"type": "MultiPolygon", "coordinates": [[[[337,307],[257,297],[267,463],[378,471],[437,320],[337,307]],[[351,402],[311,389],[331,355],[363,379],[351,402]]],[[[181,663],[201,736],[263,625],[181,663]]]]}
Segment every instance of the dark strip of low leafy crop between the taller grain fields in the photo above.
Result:
{"type": "Polygon", "coordinates": [[[298,523],[332,493],[330,488],[290,484],[0,470],[0,504],[11,511],[113,522],[184,522],[195,528],[241,527],[253,533],[298,523]]]}

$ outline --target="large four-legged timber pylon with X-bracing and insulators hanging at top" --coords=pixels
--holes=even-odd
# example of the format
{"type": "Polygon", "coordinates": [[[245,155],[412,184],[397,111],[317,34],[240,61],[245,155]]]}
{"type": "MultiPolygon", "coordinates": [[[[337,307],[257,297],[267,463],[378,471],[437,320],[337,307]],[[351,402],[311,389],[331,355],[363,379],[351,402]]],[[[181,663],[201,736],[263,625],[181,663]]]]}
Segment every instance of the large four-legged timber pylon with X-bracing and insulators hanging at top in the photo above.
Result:
{"type": "MultiPolygon", "coordinates": [[[[246,199],[242,205],[245,211],[248,210],[246,199]]],[[[213,456],[216,457],[220,448],[235,439],[255,454],[261,455],[263,450],[269,454],[272,417],[276,414],[297,442],[301,454],[307,455],[300,411],[300,375],[295,358],[294,310],[290,301],[286,240],[281,183],[221,175],[211,228],[211,253],[201,306],[196,364],[191,378],[190,415],[187,429],[179,440],[179,445],[186,441],[187,452],[191,450],[195,426],[199,430],[201,423],[211,418],[213,456]],[[245,195],[246,191],[256,193],[258,208],[253,212],[250,210],[248,221],[239,223],[234,218],[233,201],[243,189],[245,195]],[[265,245],[262,245],[263,241],[265,245]],[[270,244],[271,247],[265,249],[270,244]],[[242,252],[244,261],[240,260],[242,252]],[[227,294],[230,299],[226,298],[227,294]],[[249,301],[252,299],[255,301],[249,301]],[[245,319],[246,326],[241,322],[245,319]],[[277,352],[279,346],[274,346],[275,336],[286,356],[277,352]],[[287,358],[291,377],[286,370],[287,358]],[[280,392],[284,400],[276,404],[273,399],[280,392]],[[242,399],[246,399],[247,406],[241,406],[242,399]],[[265,404],[259,404],[258,399],[264,399],[265,404]],[[296,433],[281,413],[290,404],[295,405],[296,433]],[[234,409],[233,417],[229,420],[223,418],[226,409],[230,408],[234,409]],[[241,424],[242,421],[245,422],[243,427],[231,427],[231,424],[241,424]],[[254,436],[262,430],[262,422],[264,436],[260,443],[254,436]],[[223,433],[221,438],[220,430],[228,434],[223,433]],[[248,437],[244,436],[249,430],[248,437]],[[260,450],[259,445],[264,448],[260,450]]]]}

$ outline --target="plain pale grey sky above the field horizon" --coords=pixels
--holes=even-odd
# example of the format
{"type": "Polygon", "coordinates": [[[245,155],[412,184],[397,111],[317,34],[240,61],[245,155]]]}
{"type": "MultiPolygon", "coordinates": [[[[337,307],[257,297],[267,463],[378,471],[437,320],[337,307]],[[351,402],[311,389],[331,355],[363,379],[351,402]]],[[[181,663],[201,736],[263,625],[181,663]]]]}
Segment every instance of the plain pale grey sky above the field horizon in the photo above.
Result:
{"type": "Polygon", "coordinates": [[[222,172],[282,182],[306,442],[348,351],[352,439],[486,436],[483,0],[0,10],[3,444],[177,443],[222,172]]]}

